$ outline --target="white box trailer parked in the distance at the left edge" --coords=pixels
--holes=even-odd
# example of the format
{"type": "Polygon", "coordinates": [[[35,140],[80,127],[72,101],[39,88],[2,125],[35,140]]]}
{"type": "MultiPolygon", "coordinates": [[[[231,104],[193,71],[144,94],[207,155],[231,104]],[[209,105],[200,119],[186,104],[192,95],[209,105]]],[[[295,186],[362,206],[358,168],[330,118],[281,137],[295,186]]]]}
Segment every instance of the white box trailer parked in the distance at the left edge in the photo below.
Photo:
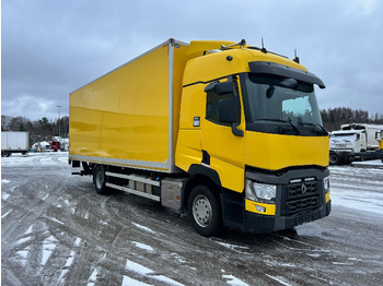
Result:
{"type": "Polygon", "coordinates": [[[28,152],[30,138],[28,132],[1,131],[1,157],[9,157],[12,153],[28,152]]]}

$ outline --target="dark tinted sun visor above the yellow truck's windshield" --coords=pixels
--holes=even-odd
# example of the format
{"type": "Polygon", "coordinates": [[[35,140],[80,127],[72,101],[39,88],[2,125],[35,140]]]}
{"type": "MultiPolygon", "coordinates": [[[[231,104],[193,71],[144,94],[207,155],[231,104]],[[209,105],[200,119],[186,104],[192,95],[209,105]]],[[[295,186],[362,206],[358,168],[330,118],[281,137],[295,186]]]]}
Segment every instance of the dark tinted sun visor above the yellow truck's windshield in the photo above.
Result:
{"type": "Polygon", "coordinates": [[[275,74],[283,78],[295,79],[297,81],[316,84],[321,88],[325,88],[325,84],[315,74],[302,70],[298,70],[288,65],[283,65],[269,61],[252,61],[248,67],[254,74],[275,74]]]}

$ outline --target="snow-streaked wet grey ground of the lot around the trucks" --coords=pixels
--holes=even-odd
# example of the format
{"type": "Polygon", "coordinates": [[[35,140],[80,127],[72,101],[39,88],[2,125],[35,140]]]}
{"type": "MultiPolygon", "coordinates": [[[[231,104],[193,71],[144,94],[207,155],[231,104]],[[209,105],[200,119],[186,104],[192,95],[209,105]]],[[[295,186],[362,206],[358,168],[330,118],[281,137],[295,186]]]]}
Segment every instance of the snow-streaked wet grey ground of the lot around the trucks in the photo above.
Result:
{"type": "Polygon", "coordinates": [[[297,233],[208,239],[158,203],[97,195],[66,156],[1,158],[2,285],[382,285],[382,164],[332,167],[332,214],[297,233]]]}

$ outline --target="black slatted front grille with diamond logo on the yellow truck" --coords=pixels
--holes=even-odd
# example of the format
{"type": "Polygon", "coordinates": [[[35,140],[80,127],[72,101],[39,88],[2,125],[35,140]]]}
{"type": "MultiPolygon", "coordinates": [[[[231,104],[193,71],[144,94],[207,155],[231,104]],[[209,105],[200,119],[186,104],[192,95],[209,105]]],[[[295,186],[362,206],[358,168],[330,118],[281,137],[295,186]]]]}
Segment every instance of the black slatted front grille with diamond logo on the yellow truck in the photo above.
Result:
{"type": "Polygon", "coordinates": [[[282,195],[281,215],[293,215],[320,206],[320,188],[316,180],[291,180],[282,195]]]}

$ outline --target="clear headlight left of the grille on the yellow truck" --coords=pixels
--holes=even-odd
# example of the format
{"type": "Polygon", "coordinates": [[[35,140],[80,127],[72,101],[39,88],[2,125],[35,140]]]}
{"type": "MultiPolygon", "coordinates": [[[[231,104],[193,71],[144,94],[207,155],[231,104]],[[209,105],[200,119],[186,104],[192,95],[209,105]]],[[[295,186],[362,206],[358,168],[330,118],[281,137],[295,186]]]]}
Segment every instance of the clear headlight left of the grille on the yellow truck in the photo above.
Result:
{"type": "Polygon", "coordinates": [[[275,203],[277,186],[246,180],[246,199],[259,203],[275,203]]]}

